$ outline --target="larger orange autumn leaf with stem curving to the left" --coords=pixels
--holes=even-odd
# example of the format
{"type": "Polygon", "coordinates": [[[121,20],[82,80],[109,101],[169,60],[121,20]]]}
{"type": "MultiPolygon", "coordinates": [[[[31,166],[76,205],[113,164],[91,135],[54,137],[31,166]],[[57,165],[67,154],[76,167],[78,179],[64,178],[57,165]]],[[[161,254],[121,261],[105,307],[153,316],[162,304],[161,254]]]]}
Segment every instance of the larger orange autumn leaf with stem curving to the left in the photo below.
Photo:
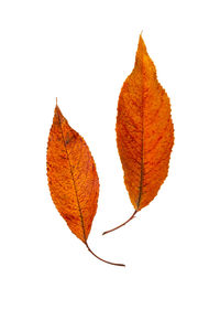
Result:
{"type": "Polygon", "coordinates": [[[119,96],[117,145],[134,213],[127,222],[103,234],[130,222],[156,196],[168,173],[174,145],[170,104],[157,81],[142,35],[134,68],[119,96]]]}

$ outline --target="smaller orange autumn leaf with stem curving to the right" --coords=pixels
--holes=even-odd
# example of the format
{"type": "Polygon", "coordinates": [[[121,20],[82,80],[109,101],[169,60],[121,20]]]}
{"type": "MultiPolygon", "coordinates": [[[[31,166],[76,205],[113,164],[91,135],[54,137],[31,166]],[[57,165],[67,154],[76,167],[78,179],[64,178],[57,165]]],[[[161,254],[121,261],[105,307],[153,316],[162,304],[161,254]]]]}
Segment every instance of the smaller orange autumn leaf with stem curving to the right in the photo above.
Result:
{"type": "Polygon", "coordinates": [[[70,231],[88,246],[87,238],[97,211],[99,179],[85,140],[70,128],[56,105],[47,145],[47,178],[53,202],[70,231]]]}

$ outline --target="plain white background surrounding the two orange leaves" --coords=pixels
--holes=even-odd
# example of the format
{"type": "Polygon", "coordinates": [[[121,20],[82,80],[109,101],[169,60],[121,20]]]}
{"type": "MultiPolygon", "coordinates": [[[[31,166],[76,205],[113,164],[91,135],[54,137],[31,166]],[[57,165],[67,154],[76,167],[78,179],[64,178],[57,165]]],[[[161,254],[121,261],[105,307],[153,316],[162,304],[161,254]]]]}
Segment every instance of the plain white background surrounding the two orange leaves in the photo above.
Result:
{"type": "Polygon", "coordinates": [[[219,1],[0,2],[0,329],[220,330],[219,1]],[[116,145],[143,30],[173,109],[169,175],[133,212],[116,145]],[[89,244],[46,179],[55,97],[100,179],[89,244]]]}

